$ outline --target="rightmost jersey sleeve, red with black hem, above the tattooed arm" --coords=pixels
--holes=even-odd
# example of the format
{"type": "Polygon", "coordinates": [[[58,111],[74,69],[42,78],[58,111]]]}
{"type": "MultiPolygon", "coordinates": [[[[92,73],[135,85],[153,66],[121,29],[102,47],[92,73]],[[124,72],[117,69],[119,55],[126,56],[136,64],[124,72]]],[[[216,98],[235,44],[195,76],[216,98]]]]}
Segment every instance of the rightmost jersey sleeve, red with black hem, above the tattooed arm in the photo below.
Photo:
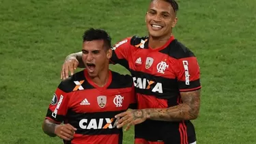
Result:
{"type": "Polygon", "coordinates": [[[177,81],[181,92],[201,89],[200,70],[196,57],[177,59],[177,81]]]}

